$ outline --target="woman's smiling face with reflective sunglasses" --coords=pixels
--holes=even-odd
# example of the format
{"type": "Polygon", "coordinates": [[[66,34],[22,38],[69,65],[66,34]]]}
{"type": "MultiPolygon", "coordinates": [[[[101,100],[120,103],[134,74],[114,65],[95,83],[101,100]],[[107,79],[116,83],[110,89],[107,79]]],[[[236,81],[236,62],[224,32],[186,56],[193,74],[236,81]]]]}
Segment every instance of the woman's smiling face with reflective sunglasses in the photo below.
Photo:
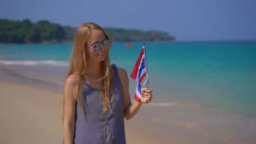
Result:
{"type": "Polygon", "coordinates": [[[104,61],[112,45],[111,40],[107,40],[100,29],[93,29],[88,42],[89,59],[93,63],[104,61]]]}

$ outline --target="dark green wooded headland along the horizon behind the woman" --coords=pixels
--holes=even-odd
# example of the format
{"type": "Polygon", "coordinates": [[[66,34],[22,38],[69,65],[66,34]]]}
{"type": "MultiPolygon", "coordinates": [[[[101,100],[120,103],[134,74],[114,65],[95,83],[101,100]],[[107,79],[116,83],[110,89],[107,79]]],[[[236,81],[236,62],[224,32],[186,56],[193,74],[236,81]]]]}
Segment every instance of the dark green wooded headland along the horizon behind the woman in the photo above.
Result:
{"type": "MultiPolygon", "coordinates": [[[[43,43],[73,41],[76,27],[61,26],[47,20],[32,23],[29,19],[11,21],[0,19],[0,43],[43,43]]],[[[175,37],[162,31],[142,31],[106,27],[113,41],[172,41],[175,37]]]]}

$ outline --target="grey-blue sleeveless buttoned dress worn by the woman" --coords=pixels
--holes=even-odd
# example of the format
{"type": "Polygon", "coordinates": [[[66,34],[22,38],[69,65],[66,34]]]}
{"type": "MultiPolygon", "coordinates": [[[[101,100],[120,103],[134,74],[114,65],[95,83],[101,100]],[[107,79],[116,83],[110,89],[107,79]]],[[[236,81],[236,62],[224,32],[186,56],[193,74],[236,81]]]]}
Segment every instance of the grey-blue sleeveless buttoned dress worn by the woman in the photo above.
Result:
{"type": "MultiPolygon", "coordinates": [[[[113,77],[115,99],[110,105],[110,112],[106,114],[101,114],[103,105],[100,91],[88,85],[82,76],[81,93],[85,107],[83,107],[83,115],[79,105],[76,106],[74,144],[126,144],[122,85],[117,67],[115,64],[112,64],[112,67],[115,72],[113,77]]],[[[111,98],[112,93],[110,93],[111,98]]]]}

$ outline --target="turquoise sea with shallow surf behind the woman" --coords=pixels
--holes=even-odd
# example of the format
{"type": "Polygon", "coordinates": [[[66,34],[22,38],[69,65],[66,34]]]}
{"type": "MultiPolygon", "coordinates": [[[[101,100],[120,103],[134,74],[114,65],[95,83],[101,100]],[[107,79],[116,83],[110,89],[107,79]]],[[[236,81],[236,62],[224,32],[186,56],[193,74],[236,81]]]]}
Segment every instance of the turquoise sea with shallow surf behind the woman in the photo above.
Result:
{"type": "MultiPolygon", "coordinates": [[[[128,75],[143,43],[131,45],[113,43],[110,52],[111,63],[128,75]]],[[[18,67],[26,77],[62,85],[71,51],[72,44],[0,45],[0,64],[18,67]]],[[[256,42],[148,42],[146,54],[152,104],[183,101],[256,117],[256,42]]],[[[130,78],[132,99],[135,87],[130,78]]]]}

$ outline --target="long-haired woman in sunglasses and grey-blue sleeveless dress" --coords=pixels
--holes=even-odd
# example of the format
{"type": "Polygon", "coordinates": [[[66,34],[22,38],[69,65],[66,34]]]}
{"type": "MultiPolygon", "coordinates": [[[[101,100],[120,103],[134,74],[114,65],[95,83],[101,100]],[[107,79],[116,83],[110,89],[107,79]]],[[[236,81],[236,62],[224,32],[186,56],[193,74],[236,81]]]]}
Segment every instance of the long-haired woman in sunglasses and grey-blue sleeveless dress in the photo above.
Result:
{"type": "Polygon", "coordinates": [[[127,72],[110,65],[112,42],[99,25],[78,27],[64,84],[61,120],[65,144],[125,144],[124,118],[152,100],[142,88],[141,103],[131,104],[127,72]]]}

